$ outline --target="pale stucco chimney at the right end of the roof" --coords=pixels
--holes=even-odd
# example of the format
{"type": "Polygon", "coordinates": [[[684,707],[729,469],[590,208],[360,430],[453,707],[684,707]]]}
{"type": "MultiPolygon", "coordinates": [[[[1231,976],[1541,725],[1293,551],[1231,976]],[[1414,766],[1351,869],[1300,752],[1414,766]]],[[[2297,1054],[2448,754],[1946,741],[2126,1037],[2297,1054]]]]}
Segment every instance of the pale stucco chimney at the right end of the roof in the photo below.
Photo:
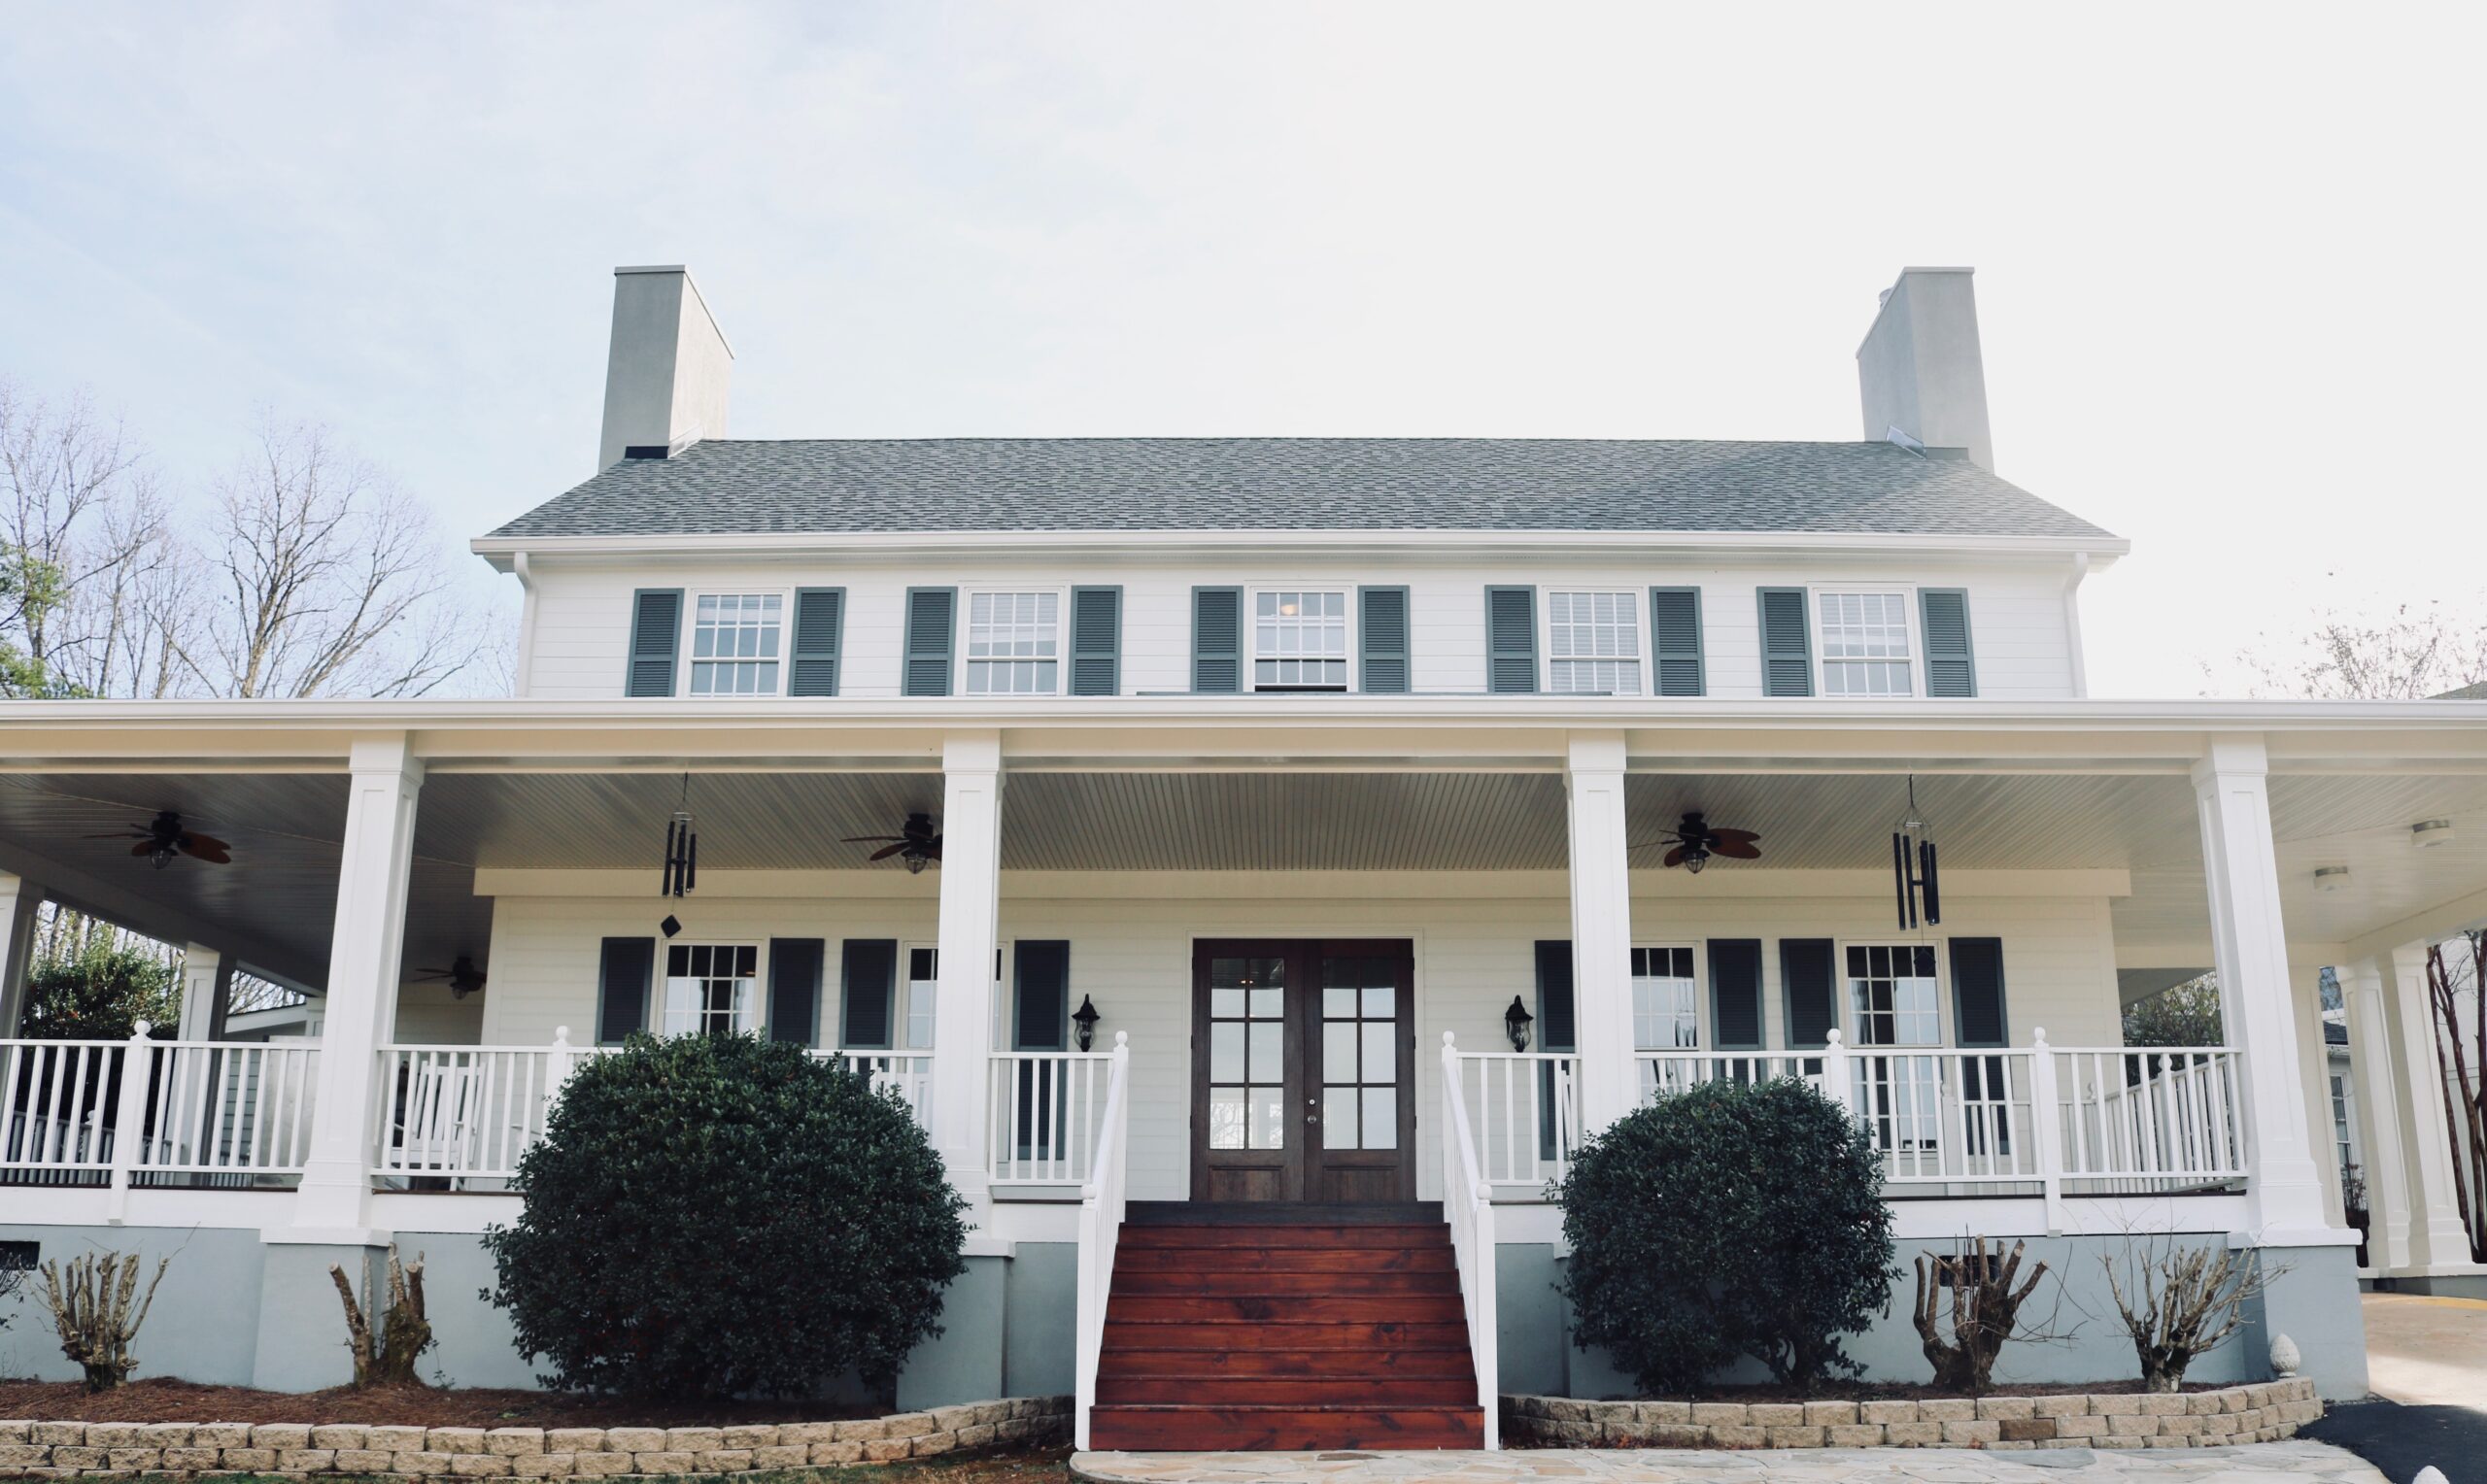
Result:
{"type": "Polygon", "coordinates": [[[1900,433],[1925,447],[1965,447],[1992,470],[1987,363],[1977,350],[1975,268],[1900,268],[1883,313],[1858,346],[1865,437],[1900,433]]]}

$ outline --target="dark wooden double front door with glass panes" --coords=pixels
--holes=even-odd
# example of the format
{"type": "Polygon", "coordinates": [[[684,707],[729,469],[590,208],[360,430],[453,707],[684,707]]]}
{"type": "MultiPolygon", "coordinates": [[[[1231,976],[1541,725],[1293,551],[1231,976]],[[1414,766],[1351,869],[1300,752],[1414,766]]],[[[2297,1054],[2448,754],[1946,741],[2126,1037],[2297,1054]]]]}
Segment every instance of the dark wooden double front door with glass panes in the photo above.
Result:
{"type": "Polygon", "coordinates": [[[1191,947],[1191,1198],[1415,1201],[1405,940],[1191,947]]]}

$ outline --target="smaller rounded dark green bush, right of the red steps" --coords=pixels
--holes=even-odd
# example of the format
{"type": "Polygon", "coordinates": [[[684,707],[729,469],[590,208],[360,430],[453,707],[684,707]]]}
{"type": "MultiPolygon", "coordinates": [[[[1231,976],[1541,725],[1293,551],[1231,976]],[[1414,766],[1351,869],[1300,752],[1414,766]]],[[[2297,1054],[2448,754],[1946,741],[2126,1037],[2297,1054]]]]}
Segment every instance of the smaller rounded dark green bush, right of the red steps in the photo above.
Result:
{"type": "Polygon", "coordinates": [[[1873,1141],[1791,1079],[1634,1109],[1554,1196],[1574,1337],[1644,1395],[1689,1392],[1738,1355],[1781,1385],[1855,1375],[1840,1335],[1865,1330],[1900,1275],[1873,1141]]]}

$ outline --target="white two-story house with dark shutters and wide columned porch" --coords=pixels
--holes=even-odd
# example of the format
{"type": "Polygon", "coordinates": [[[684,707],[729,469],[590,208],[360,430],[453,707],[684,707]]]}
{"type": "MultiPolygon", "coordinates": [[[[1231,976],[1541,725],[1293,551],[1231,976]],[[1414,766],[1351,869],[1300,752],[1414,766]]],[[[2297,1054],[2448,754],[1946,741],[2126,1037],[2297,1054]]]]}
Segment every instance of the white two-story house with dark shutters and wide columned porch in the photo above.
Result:
{"type": "MultiPolygon", "coordinates": [[[[194,945],[182,1039],[77,1049],[119,1096],[5,1049],[0,1235],[182,1245],[157,1372],[338,1380],[326,1265],[395,1238],[443,1367],[525,1385],[460,1295],[562,1076],[744,1029],[870,1069],[972,1203],[910,1404],[1423,1444],[1619,1392],[1544,1186],[1776,1074],[1870,1129],[1903,1260],[2027,1238],[2109,1312],[2099,1255],[2251,1248],[2261,1327],[2201,1375],[2288,1332],[2355,1395],[2325,964],[2375,1273],[2477,1283],[2420,955],[2487,915],[2487,703],[2089,698],[2126,542],[1995,475],[1965,268],[1883,296],[1858,442],[768,442],[729,365],[686,271],[619,271],[594,475],[475,542],[525,587],[507,701],[0,711],[7,984],[42,897],[194,945]],[[231,863],[85,840],[159,810],[231,863]],[[318,1037],[219,1039],[236,962],[318,1037]],[[2213,967],[2223,1044],[2119,1044],[2213,967]],[[1278,1312],[1224,1228],[1410,1275],[1278,1312]]],[[[1858,1350],[1922,1380],[1905,1305],[1858,1350]]]]}

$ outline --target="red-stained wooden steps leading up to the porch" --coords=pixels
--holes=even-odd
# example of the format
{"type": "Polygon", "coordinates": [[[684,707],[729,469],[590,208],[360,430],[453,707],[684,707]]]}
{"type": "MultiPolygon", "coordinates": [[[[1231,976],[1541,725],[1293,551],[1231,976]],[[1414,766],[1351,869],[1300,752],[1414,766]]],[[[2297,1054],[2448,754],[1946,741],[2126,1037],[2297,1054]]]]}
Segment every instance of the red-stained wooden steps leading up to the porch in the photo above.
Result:
{"type": "Polygon", "coordinates": [[[1482,1447],[1435,1203],[1132,1203],[1097,1362],[1097,1449],[1482,1447]]]}

